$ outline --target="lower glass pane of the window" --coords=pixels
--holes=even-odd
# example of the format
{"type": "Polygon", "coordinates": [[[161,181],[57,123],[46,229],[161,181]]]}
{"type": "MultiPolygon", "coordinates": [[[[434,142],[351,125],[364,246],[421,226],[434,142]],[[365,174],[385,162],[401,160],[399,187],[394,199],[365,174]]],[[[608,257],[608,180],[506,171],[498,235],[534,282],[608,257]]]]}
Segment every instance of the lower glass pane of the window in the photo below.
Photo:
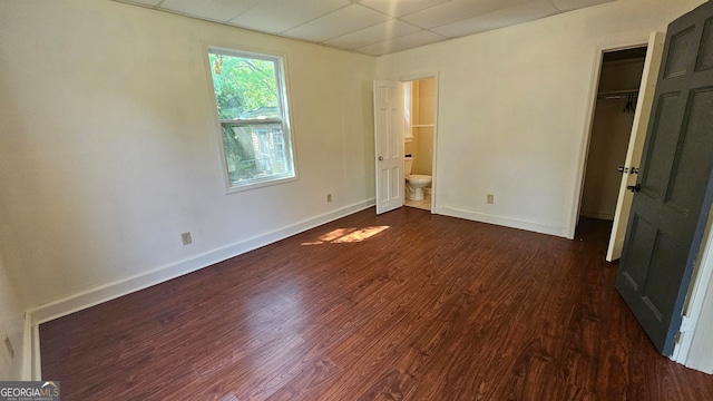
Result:
{"type": "Polygon", "coordinates": [[[292,177],[281,124],[223,125],[231,184],[292,177]]]}

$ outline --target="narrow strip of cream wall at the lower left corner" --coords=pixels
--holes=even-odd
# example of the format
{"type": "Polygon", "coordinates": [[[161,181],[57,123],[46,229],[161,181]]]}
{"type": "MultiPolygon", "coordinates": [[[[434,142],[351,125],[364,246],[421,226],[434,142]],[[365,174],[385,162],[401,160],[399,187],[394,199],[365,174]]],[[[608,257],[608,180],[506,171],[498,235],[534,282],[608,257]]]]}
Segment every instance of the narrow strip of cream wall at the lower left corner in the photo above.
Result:
{"type": "Polygon", "coordinates": [[[0,253],[0,381],[21,379],[23,315],[0,253]],[[14,355],[4,345],[6,338],[10,339],[14,355]]]}

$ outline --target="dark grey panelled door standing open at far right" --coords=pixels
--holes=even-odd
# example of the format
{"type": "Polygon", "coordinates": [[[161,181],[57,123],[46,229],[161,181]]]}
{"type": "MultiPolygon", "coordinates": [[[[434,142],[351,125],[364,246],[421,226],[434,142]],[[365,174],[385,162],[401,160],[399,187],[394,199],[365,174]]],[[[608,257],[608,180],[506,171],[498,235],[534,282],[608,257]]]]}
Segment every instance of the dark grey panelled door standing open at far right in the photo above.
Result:
{"type": "Polygon", "coordinates": [[[671,355],[713,202],[713,2],[668,26],[616,287],[671,355]]]}

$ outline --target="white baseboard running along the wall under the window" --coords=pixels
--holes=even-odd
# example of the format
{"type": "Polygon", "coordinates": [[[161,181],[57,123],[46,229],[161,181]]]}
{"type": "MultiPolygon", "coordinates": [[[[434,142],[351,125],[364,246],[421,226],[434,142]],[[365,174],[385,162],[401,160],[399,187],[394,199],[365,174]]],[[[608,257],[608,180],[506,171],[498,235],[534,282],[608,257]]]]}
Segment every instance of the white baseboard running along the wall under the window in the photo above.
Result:
{"type": "MultiPolygon", "coordinates": [[[[333,222],[374,206],[375,199],[359,202],[336,211],[332,211],[305,221],[275,229],[270,233],[241,241],[195,257],[178,261],[167,266],[136,274],[113,283],[107,283],[81,293],[67,296],[26,312],[23,344],[23,380],[41,380],[39,325],[70,313],[107,302],[136,291],[147,288],[168,280],[214,265],[231,257],[272,244],[289,236],[305,232],[325,223],[333,222]]],[[[51,379],[51,378],[49,378],[51,379]]]]}

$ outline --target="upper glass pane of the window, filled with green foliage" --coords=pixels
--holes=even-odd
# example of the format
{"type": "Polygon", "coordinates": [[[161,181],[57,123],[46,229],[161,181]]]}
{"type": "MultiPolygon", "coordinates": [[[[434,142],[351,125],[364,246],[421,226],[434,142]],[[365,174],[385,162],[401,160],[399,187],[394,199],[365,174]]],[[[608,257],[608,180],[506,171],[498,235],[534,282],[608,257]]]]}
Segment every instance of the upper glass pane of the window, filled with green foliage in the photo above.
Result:
{"type": "Polygon", "coordinates": [[[280,117],[275,62],[209,52],[219,119],[280,117]]]}

